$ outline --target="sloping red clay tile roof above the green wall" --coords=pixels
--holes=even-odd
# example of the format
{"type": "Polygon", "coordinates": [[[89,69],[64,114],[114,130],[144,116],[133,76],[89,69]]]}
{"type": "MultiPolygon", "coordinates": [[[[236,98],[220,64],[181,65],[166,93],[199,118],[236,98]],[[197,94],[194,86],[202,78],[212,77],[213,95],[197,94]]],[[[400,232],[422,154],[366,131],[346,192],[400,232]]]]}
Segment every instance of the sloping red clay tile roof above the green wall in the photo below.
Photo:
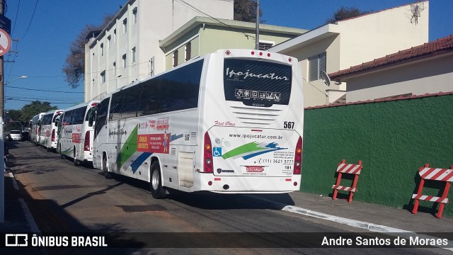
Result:
{"type": "Polygon", "coordinates": [[[381,57],[370,62],[358,64],[354,67],[350,67],[349,69],[343,69],[338,72],[331,73],[329,74],[329,77],[333,80],[338,80],[377,69],[393,67],[398,64],[413,62],[415,60],[423,60],[428,57],[434,57],[449,52],[453,52],[453,35],[449,35],[445,38],[440,38],[432,42],[425,42],[423,45],[411,47],[407,50],[400,50],[394,54],[386,55],[385,57],[381,57]]]}

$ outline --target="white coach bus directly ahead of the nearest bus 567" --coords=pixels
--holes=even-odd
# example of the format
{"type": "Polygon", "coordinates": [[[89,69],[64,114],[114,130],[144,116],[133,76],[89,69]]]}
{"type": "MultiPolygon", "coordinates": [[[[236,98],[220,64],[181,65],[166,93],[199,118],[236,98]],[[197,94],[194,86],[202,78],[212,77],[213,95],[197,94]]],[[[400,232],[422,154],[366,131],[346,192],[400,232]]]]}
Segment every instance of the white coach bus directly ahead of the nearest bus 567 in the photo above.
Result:
{"type": "Polygon", "coordinates": [[[57,152],[62,158],[69,157],[74,165],[93,161],[93,130],[96,106],[99,101],[88,101],[64,110],[59,118],[59,142],[57,152]]]}

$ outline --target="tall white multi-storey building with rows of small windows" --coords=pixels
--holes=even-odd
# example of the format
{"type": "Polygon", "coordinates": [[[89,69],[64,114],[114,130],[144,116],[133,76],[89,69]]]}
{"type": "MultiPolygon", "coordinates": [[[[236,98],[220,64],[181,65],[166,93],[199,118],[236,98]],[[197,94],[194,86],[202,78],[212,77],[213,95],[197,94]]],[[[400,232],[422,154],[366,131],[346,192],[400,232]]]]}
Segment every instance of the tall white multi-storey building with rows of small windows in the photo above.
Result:
{"type": "Polygon", "coordinates": [[[85,101],[165,69],[159,40],[195,16],[233,19],[233,0],[129,0],[85,46],[85,101]]]}

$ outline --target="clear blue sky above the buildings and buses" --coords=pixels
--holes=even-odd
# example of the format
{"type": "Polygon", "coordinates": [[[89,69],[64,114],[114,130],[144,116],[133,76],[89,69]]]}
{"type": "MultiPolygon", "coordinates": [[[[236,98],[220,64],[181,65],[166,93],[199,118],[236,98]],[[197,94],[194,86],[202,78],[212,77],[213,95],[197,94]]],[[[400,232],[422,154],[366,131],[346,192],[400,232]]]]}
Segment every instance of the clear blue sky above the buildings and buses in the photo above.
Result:
{"type": "MultiPolygon", "coordinates": [[[[35,100],[48,101],[59,108],[84,101],[83,85],[71,89],[62,73],[69,45],[84,26],[102,23],[106,13],[115,13],[126,0],[4,1],[7,4],[5,15],[11,19],[11,38],[18,39],[4,56],[8,61],[4,64],[5,109],[21,109],[35,100]],[[22,75],[28,78],[17,79],[22,75]]],[[[260,8],[266,24],[310,30],[323,25],[340,6],[381,11],[413,2],[415,0],[260,0],[260,8]]],[[[451,10],[452,0],[430,1],[430,41],[453,34],[451,10]]],[[[421,13],[427,14],[427,11],[421,13]]]]}

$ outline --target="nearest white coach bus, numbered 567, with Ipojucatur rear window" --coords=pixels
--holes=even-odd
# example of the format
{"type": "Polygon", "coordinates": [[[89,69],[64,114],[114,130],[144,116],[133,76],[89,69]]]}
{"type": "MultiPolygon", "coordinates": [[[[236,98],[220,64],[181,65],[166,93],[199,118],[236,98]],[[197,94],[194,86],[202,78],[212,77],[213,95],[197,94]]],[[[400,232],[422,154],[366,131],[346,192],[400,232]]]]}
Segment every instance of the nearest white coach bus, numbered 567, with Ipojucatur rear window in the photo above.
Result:
{"type": "Polygon", "coordinates": [[[218,50],[103,99],[93,166],[149,182],[154,198],[298,191],[303,111],[297,59],[218,50]]]}

